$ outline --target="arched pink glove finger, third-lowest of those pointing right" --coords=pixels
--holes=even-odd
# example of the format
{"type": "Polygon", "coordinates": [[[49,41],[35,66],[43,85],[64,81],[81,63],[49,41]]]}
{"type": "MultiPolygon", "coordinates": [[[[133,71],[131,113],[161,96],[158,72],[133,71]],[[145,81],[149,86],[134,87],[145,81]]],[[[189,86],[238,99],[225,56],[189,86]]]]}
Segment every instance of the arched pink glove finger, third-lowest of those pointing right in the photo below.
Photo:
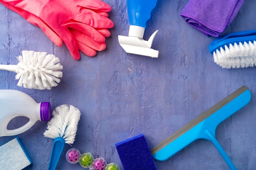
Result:
{"type": "Polygon", "coordinates": [[[103,35],[101,35],[101,33],[99,33],[97,30],[95,30],[89,25],[79,23],[79,22],[70,22],[65,24],[65,26],[67,26],[68,28],[76,29],[82,33],[85,33],[90,37],[92,37],[97,42],[105,42],[106,40],[106,38],[103,35]]]}

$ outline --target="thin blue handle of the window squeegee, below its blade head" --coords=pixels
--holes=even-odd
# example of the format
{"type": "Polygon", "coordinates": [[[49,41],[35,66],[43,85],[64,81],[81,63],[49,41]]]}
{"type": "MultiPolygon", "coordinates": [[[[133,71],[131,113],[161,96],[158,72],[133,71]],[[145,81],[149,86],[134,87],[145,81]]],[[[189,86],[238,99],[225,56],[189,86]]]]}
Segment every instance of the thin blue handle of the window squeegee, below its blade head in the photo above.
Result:
{"type": "Polygon", "coordinates": [[[217,150],[220,152],[220,155],[223,157],[223,159],[226,161],[227,165],[231,170],[236,170],[236,167],[234,166],[233,162],[225,152],[225,150],[221,147],[220,143],[217,141],[216,137],[209,131],[205,130],[205,133],[209,136],[209,139],[213,143],[213,145],[217,148],[217,150]]]}

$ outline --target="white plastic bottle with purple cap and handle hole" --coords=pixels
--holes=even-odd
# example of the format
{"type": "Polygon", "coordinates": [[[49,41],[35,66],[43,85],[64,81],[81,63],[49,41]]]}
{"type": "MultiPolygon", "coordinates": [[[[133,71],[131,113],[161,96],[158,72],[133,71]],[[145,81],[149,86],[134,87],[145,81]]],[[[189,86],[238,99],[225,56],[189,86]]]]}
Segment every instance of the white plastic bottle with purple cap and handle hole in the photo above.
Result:
{"type": "Polygon", "coordinates": [[[49,121],[51,106],[49,102],[36,103],[32,97],[18,90],[0,90],[0,137],[18,135],[31,128],[36,121],[49,121]],[[18,116],[29,118],[20,128],[8,130],[9,122],[18,116]]]}

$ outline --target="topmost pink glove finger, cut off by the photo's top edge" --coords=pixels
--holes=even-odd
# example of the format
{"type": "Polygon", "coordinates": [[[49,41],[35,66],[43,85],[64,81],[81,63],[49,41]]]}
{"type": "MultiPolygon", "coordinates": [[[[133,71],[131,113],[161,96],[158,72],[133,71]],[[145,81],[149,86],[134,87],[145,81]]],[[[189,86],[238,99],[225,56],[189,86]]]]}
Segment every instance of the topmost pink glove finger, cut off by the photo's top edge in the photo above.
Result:
{"type": "Polygon", "coordinates": [[[88,9],[94,9],[102,12],[110,12],[111,7],[109,4],[102,2],[101,0],[78,0],[76,2],[80,7],[88,9]]]}

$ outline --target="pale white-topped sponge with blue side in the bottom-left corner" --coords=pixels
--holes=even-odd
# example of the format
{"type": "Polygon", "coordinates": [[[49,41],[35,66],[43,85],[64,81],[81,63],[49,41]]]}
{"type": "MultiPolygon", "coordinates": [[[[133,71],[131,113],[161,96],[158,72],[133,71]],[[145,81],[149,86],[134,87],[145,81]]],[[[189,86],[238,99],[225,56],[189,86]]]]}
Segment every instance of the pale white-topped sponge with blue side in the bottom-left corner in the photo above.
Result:
{"type": "Polygon", "coordinates": [[[32,163],[18,137],[0,146],[1,170],[22,170],[32,163]]]}

